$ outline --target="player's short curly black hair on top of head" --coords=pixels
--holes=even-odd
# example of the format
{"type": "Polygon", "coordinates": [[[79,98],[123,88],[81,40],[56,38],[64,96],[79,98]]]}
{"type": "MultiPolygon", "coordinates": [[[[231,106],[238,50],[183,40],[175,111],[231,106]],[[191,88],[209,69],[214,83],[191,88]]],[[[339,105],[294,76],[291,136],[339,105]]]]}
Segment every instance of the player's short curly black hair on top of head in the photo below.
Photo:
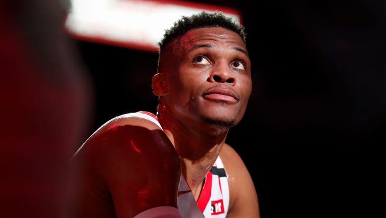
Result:
{"type": "Polygon", "coordinates": [[[201,13],[191,15],[189,17],[182,16],[181,19],[174,22],[174,25],[165,31],[164,37],[158,42],[160,51],[164,46],[174,38],[185,34],[187,31],[205,27],[223,27],[231,30],[242,37],[246,43],[247,33],[242,24],[237,23],[231,17],[226,17],[222,12],[215,11],[209,13],[202,11],[201,13]]]}

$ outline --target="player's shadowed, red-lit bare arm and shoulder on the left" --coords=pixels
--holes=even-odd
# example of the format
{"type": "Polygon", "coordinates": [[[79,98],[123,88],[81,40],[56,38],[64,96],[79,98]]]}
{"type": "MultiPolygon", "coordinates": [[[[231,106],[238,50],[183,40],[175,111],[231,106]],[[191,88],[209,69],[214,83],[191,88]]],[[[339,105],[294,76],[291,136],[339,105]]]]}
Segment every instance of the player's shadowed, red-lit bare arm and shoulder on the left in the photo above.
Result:
{"type": "Polygon", "coordinates": [[[110,122],[73,161],[79,171],[74,217],[131,218],[153,207],[177,207],[178,155],[162,130],[147,120],[110,122]]]}

